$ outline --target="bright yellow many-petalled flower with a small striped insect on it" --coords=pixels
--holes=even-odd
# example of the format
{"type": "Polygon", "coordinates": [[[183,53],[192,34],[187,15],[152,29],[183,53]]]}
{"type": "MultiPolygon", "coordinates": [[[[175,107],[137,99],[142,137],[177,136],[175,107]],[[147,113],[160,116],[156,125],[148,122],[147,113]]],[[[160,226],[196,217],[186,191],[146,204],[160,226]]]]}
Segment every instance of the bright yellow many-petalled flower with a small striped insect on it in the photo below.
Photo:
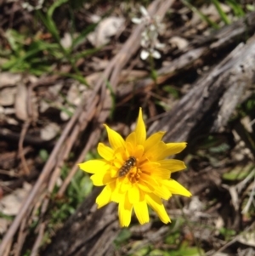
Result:
{"type": "Polygon", "coordinates": [[[137,127],[123,139],[120,134],[105,125],[111,147],[99,143],[99,155],[103,159],[89,160],[79,167],[93,174],[94,185],[105,185],[96,199],[98,208],[109,202],[118,203],[121,226],[128,226],[134,210],[140,224],[149,222],[148,206],[154,209],[163,223],[170,218],[161,199],[168,200],[173,194],[191,196],[171,174],[185,168],[184,162],[165,159],[183,151],[185,142],[164,143],[165,132],[152,134],[146,139],[146,129],[139,110],[137,127]]]}

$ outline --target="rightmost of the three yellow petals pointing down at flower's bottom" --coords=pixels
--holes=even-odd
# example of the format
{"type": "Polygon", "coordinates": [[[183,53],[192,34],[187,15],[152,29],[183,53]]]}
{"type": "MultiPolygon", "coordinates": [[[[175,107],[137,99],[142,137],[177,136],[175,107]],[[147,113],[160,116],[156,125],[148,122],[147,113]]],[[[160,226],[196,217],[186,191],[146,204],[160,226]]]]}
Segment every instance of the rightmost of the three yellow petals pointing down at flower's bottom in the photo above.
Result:
{"type": "Polygon", "coordinates": [[[161,221],[165,224],[171,222],[166,209],[161,202],[161,198],[159,196],[156,196],[154,194],[146,194],[145,195],[146,202],[150,205],[151,208],[155,210],[161,221]]]}

